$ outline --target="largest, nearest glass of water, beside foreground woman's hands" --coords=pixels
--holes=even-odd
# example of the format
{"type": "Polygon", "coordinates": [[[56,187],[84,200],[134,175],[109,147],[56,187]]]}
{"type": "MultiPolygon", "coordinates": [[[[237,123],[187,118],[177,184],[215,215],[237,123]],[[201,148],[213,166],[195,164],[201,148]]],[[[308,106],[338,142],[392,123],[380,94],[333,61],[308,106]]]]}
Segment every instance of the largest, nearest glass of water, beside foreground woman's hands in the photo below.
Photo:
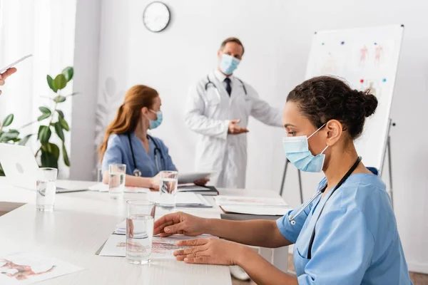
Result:
{"type": "Polygon", "coordinates": [[[126,204],[126,259],[132,264],[147,264],[152,251],[156,204],[144,200],[131,200],[126,204]]]}

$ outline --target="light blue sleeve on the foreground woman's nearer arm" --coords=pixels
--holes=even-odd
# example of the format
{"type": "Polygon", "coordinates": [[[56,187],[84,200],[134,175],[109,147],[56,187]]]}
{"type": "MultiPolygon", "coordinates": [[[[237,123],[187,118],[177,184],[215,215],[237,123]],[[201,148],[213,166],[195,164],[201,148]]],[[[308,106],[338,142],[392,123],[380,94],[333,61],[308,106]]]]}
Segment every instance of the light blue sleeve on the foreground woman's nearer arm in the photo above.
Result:
{"type": "Polygon", "coordinates": [[[359,209],[323,213],[317,222],[312,259],[297,280],[300,285],[360,285],[373,249],[374,237],[359,209]]]}

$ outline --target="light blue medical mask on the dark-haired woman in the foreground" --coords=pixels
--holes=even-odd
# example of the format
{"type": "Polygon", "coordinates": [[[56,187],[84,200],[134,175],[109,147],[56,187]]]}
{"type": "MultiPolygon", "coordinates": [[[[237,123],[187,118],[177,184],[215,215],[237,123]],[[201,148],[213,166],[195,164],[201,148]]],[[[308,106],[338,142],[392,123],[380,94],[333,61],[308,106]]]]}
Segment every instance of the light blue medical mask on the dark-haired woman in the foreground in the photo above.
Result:
{"type": "MultiPolygon", "coordinates": [[[[318,130],[321,130],[324,126],[325,124],[318,130]]],[[[318,130],[315,130],[312,135],[315,135],[318,130]]],[[[282,143],[284,145],[284,151],[287,159],[290,160],[298,170],[305,172],[320,172],[325,160],[325,154],[323,154],[323,152],[327,150],[328,145],[319,155],[312,155],[309,150],[309,145],[307,144],[307,140],[310,139],[312,135],[310,135],[309,138],[307,138],[306,135],[283,138],[282,143]]]]}

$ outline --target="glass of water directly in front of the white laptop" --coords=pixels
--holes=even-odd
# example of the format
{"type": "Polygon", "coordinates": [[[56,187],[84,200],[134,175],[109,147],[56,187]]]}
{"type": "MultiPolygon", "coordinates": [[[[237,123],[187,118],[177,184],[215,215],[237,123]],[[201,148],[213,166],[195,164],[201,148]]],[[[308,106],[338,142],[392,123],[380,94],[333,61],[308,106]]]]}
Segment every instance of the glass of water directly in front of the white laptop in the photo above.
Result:
{"type": "Polygon", "coordinates": [[[57,175],[56,168],[46,167],[37,170],[36,209],[39,211],[54,211],[57,175]]]}

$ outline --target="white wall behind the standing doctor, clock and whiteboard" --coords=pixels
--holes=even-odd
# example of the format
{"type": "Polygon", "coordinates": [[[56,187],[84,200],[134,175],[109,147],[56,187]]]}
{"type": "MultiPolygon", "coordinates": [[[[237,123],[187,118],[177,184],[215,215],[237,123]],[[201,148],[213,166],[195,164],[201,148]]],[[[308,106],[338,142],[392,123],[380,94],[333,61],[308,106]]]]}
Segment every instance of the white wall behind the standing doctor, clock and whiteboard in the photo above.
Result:
{"type": "MultiPolygon", "coordinates": [[[[424,131],[427,119],[419,115],[428,105],[426,1],[168,0],[172,21],[161,33],[143,26],[148,2],[102,1],[98,103],[114,110],[119,104],[114,98],[132,85],[156,88],[165,120],[155,135],[165,140],[180,170],[193,167],[195,135],[183,124],[188,86],[215,67],[216,52],[225,37],[238,36],[246,48],[237,75],[269,103],[282,107],[287,93],[304,78],[314,31],[405,24],[391,114],[397,122],[392,130],[395,209],[409,268],[428,273],[428,208],[424,207],[428,134],[424,131]]],[[[88,104],[82,108],[89,108],[88,104]]],[[[102,113],[103,120],[111,120],[111,115],[102,113]]],[[[285,159],[283,131],[255,120],[249,129],[248,188],[279,190],[285,159]]],[[[293,206],[300,200],[296,177],[290,167],[284,197],[293,206]]],[[[303,175],[305,199],[315,191],[319,178],[303,175]]]]}

